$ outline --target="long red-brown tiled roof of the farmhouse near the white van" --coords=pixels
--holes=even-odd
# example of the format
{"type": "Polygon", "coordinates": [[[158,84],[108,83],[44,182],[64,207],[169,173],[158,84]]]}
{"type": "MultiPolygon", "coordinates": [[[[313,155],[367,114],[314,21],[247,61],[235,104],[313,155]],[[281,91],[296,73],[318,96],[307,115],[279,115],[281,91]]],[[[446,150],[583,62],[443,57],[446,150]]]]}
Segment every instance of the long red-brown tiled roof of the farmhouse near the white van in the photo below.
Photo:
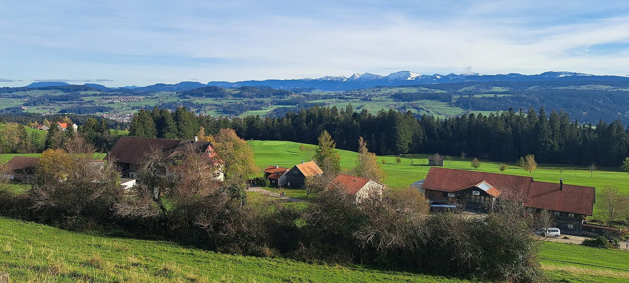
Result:
{"type": "Polygon", "coordinates": [[[489,195],[515,197],[525,206],[592,215],[594,187],[533,181],[532,177],[432,167],[421,186],[425,190],[455,191],[487,183],[489,195]]]}

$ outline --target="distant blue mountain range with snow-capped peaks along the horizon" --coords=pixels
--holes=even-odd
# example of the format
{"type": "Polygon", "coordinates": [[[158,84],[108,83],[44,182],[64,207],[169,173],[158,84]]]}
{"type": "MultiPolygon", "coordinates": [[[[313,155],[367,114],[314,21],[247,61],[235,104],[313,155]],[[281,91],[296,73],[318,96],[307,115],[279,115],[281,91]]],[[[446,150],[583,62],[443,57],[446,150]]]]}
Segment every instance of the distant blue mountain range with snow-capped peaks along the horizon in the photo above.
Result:
{"type": "MultiPolygon", "coordinates": [[[[480,73],[462,73],[449,75],[421,75],[410,71],[400,71],[391,73],[387,76],[376,75],[374,73],[354,73],[349,77],[344,76],[325,76],[321,78],[295,78],[292,80],[245,80],[241,82],[209,82],[207,84],[199,82],[180,82],[175,84],[157,83],[148,85],[147,87],[120,87],[133,89],[138,92],[145,91],[179,91],[191,90],[199,87],[216,86],[216,87],[242,87],[264,85],[273,88],[316,88],[318,90],[353,90],[357,88],[369,88],[379,85],[399,86],[399,85],[425,85],[431,83],[455,83],[455,82],[489,82],[489,81],[507,81],[507,82],[537,82],[537,81],[610,81],[610,80],[629,80],[629,75],[610,76],[610,75],[590,75],[587,73],[575,72],[545,72],[538,75],[522,75],[520,73],[508,73],[506,75],[483,75],[480,73]]],[[[48,87],[57,85],[68,85],[63,82],[35,82],[27,87],[48,87]]],[[[86,83],[88,87],[96,88],[101,91],[111,91],[116,88],[105,87],[96,83],[86,83]]]]}

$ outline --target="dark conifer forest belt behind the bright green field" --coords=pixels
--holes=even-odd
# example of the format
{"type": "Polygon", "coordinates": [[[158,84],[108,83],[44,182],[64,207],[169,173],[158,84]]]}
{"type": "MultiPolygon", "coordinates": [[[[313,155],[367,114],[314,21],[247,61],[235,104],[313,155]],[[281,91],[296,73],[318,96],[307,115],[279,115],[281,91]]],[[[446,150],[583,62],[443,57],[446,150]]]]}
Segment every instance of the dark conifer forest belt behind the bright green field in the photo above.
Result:
{"type": "Polygon", "coordinates": [[[355,150],[359,137],[379,155],[440,152],[458,157],[515,161],[535,154],[542,163],[619,166],[627,157],[629,131],[620,120],[601,120],[596,127],[572,122],[564,110],[550,114],[541,107],[500,114],[470,114],[447,119],[389,109],[376,115],[368,110],[310,107],[284,117],[195,117],[178,109],[141,110],[134,117],[130,134],[145,137],[176,136],[192,139],[200,127],[208,134],[234,129],[243,139],[294,141],[316,144],[323,130],[330,132],[340,149],[355,150]],[[160,134],[161,133],[161,134],[160,134]]]}

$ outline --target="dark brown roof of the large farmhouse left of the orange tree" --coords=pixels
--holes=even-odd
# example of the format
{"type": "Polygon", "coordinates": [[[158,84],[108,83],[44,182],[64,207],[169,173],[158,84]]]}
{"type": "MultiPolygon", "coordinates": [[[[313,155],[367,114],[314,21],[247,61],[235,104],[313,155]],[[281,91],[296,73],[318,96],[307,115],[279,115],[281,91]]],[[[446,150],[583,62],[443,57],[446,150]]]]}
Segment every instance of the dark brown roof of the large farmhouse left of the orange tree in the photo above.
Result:
{"type": "Polygon", "coordinates": [[[181,139],[153,139],[150,137],[133,136],[120,137],[118,142],[116,142],[114,147],[109,151],[108,156],[118,162],[136,164],[149,152],[156,149],[167,152],[169,157],[179,156],[186,150],[186,146],[189,144],[192,144],[199,153],[210,149],[210,157],[216,157],[216,152],[212,149],[211,142],[195,142],[181,139]]]}

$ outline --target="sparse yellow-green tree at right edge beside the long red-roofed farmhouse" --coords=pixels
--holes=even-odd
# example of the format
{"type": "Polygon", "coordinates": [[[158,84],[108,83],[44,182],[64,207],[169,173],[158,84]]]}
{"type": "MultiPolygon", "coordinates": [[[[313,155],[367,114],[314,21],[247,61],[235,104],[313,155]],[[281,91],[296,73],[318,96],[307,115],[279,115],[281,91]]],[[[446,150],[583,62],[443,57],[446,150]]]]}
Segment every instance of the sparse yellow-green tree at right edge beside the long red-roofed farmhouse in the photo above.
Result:
{"type": "Polygon", "coordinates": [[[607,225],[629,213],[629,196],[623,195],[615,186],[604,186],[598,195],[596,207],[602,211],[603,221],[607,225]]]}

